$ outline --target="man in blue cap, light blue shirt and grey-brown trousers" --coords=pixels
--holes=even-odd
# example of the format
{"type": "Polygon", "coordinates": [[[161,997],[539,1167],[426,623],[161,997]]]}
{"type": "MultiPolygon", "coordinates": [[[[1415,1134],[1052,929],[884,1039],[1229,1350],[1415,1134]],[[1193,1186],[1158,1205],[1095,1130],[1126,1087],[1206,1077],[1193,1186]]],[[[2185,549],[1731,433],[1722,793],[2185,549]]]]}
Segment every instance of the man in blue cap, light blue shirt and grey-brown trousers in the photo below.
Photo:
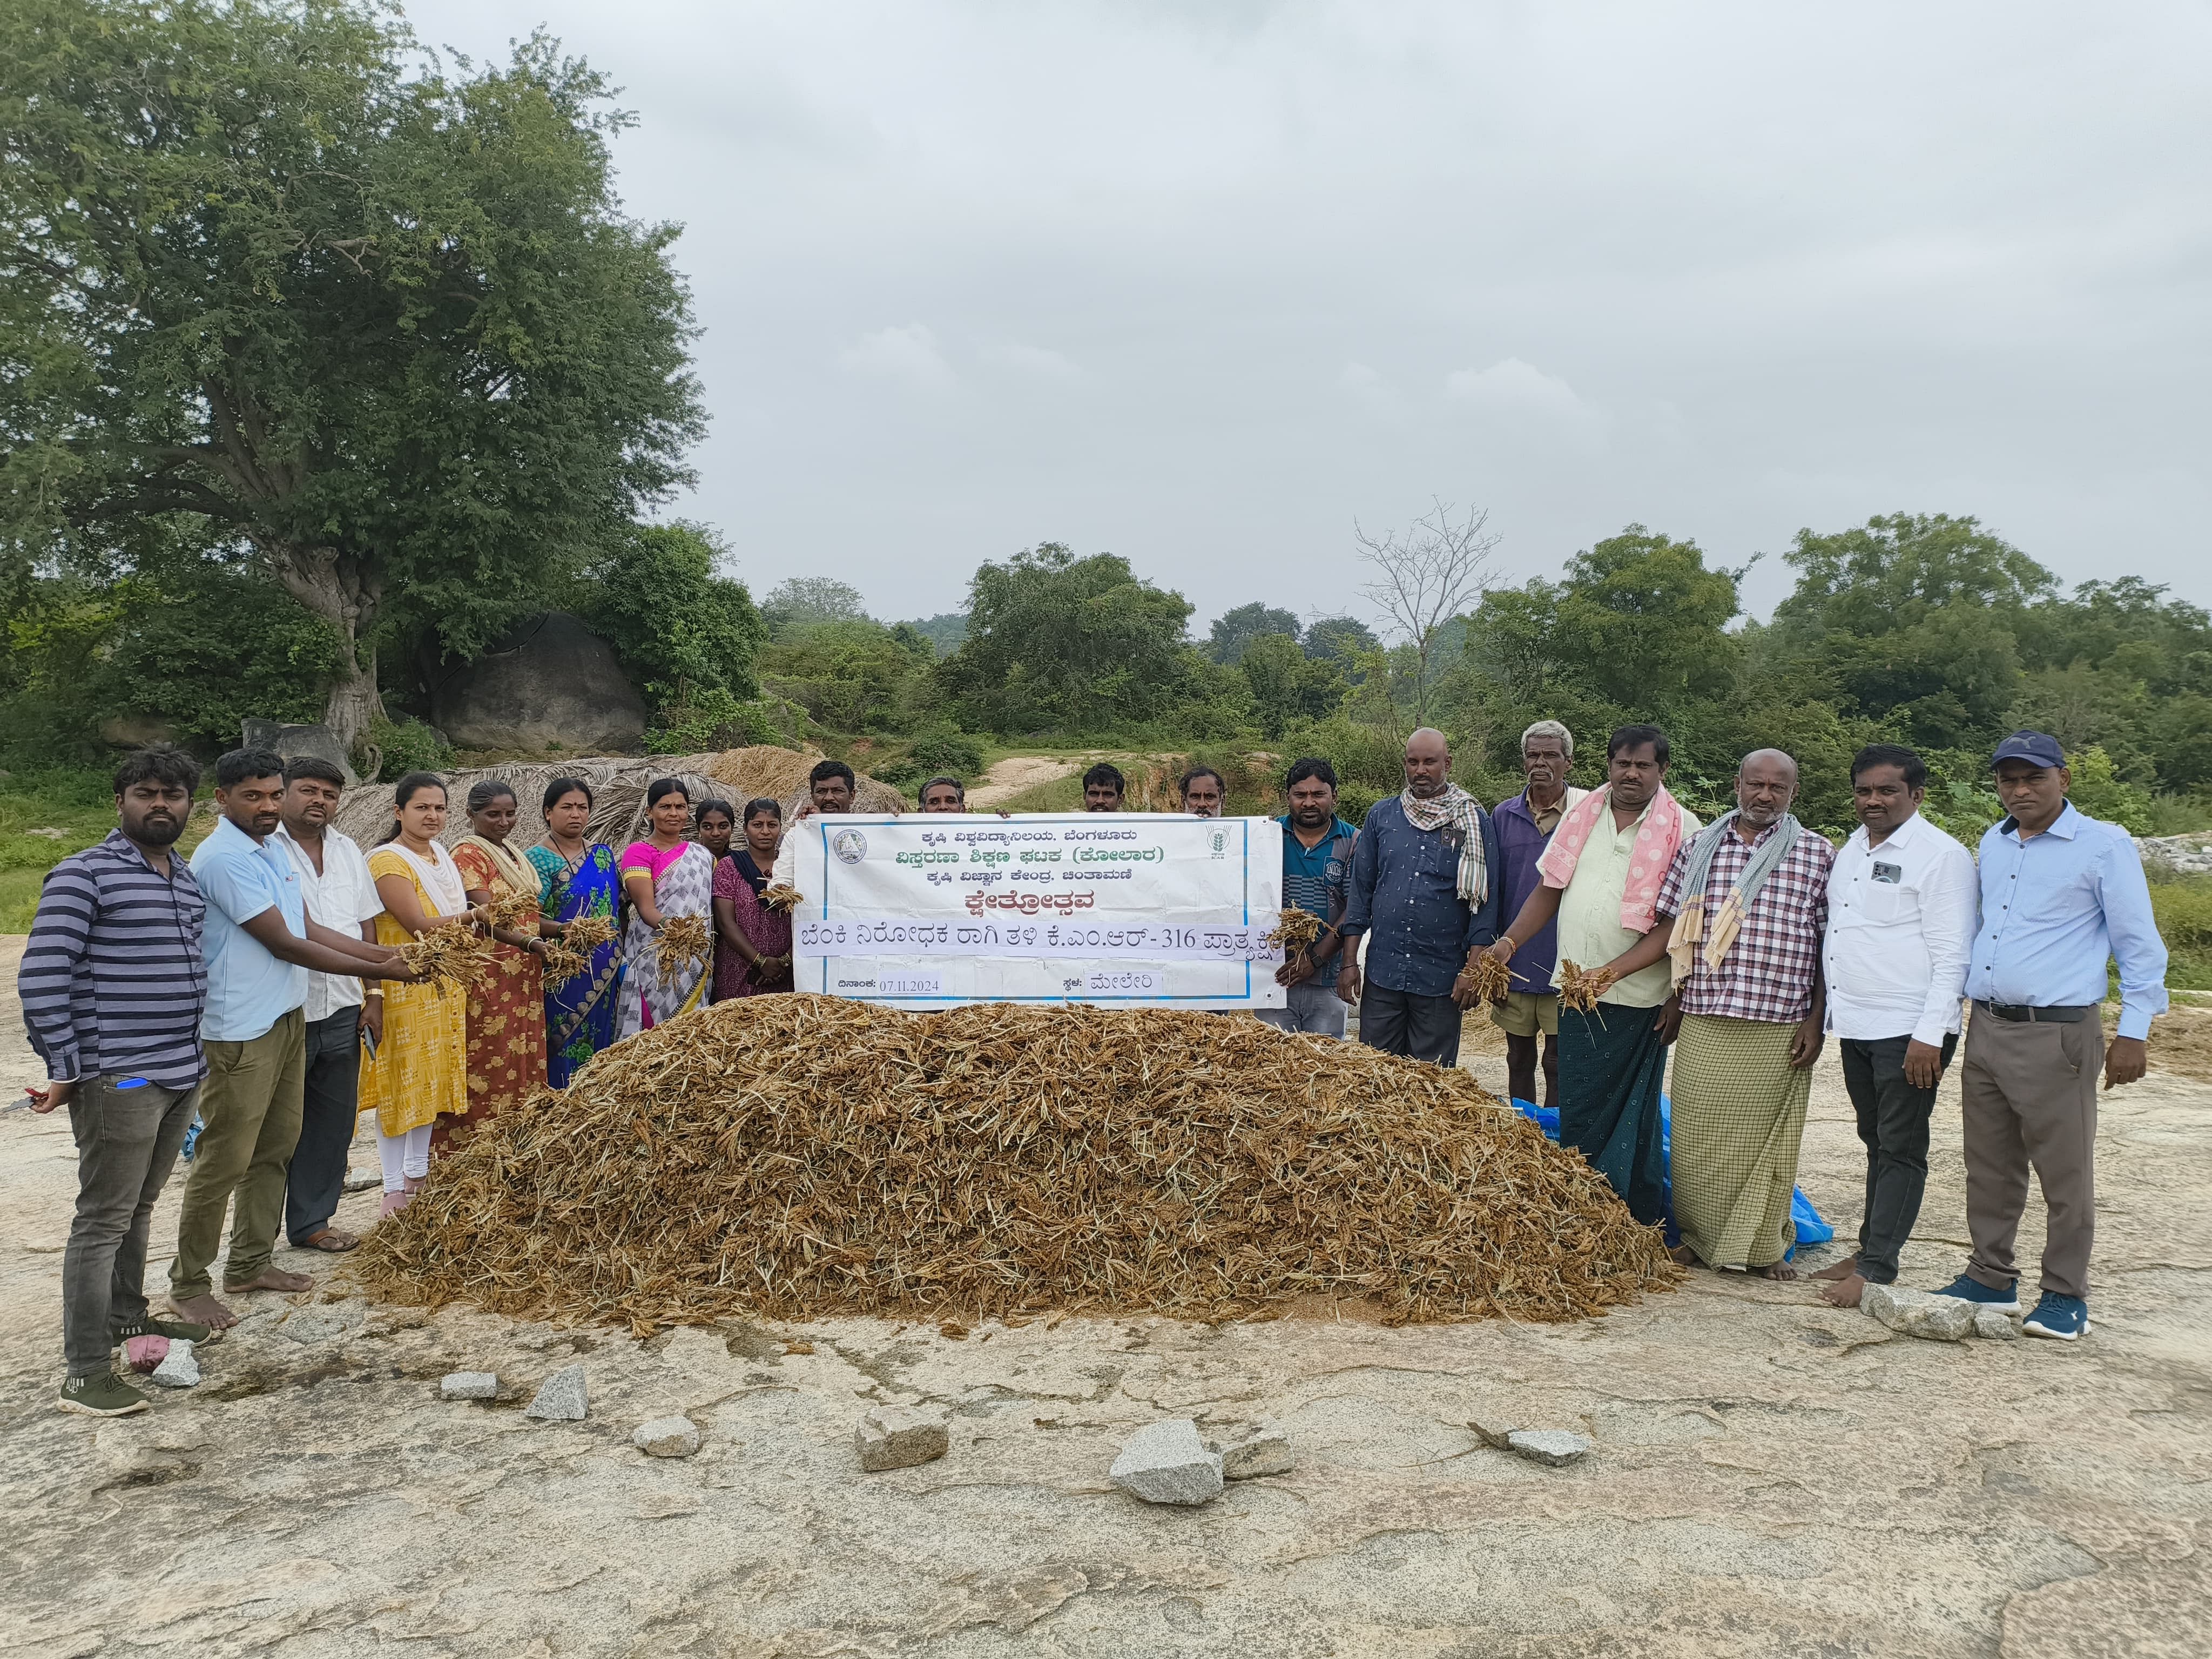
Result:
{"type": "Polygon", "coordinates": [[[2008,816],[1982,836],[1960,1071],[1973,1256],[1942,1294],[2020,1312],[2013,1237],[2033,1168],[2048,1214],[2044,1294],[2024,1329],[2070,1343],[2088,1332],[2097,1068],[2106,1088],[2143,1075],[2150,1018],[2166,1013],[2166,945],[2135,841],[2073,807],[2057,739],[2013,732],[1997,745],[1995,772],[2008,816]],[[2110,1051],[2097,1020],[2106,958],[2119,962],[2110,1051]]]}

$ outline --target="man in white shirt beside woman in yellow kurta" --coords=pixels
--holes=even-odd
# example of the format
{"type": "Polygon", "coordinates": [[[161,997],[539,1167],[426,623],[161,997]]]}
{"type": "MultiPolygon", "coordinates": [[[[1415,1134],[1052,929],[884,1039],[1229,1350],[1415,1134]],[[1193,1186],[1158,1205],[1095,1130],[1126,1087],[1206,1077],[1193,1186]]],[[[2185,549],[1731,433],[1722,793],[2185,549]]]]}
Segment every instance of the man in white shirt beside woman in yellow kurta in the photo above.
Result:
{"type": "MultiPolygon", "coordinates": [[[[385,905],[369,860],[352,836],[330,827],[343,790],[345,774],[330,761],[312,754],[290,761],[272,841],[299,872],[307,916],[374,945],[385,905]]],[[[380,984],[363,995],[361,980],[343,973],[307,975],[307,1088],[283,1192],[285,1237],[299,1250],[343,1252],[361,1243],[332,1219],[345,1192],[345,1155],[361,1108],[361,1037],[383,1035],[383,995],[380,984]]]]}

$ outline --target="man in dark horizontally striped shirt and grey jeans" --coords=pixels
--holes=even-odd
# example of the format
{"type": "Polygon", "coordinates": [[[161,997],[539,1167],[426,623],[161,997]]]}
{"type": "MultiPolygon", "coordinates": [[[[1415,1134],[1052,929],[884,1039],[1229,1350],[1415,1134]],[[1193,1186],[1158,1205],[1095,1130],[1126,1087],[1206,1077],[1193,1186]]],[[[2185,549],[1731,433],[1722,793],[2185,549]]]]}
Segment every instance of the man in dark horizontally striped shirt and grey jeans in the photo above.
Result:
{"type": "Polygon", "coordinates": [[[51,1079],[31,1091],[31,1110],[69,1106],[77,1139],[77,1212],[62,1254],[69,1376],[60,1407],[100,1418],[146,1409],[146,1396],[115,1376],[117,1343],[215,1336],[146,1307],[153,1201],[177,1164],[206,1073],[206,902],[190,867],[170,854],[197,783],[199,768],[170,748],[122,763],[122,825],[49,872],[18,973],[22,1020],[51,1079]]]}

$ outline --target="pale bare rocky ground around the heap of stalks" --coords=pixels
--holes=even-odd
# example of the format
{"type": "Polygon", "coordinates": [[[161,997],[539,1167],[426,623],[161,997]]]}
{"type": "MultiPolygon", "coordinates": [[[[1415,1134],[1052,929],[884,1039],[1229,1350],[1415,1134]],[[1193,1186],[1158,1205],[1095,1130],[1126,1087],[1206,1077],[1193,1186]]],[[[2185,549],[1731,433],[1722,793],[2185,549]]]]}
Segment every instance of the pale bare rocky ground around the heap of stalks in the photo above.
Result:
{"type": "MultiPolygon", "coordinates": [[[[0,1053],[9,1095],[33,1071],[0,1053]]],[[[1913,1283],[1962,1256],[1955,1148],[1953,1095],[1913,1283]]],[[[2108,1097],[2099,1172],[2097,1329],[2073,1347],[1911,1340],[1712,1274],[1571,1327],[1318,1310],[646,1343],[336,1287],[252,1298],[199,1389],[102,1425],[51,1407],[69,1128],[9,1108],[0,1652],[2201,1655],[2212,1088],[2154,1073],[2108,1097]],[[524,1418],[571,1363],[591,1416],[524,1418]],[[458,1369],[502,1398],[440,1400],[458,1369]],[[951,1453],[863,1475],[854,1427],[894,1400],[947,1407],[951,1453]],[[630,1447],[668,1411],[699,1425],[695,1458],[630,1447]],[[1274,1418],[1296,1469],[1148,1509],[1106,1469],[1170,1413],[1274,1418]],[[1542,1469],[1475,1420],[1595,1449],[1542,1469]]],[[[1803,1183],[1845,1232],[1856,1179],[1825,1062],[1803,1183]]],[[[170,1199],[157,1256],[173,1223],[170,1199]]]]}

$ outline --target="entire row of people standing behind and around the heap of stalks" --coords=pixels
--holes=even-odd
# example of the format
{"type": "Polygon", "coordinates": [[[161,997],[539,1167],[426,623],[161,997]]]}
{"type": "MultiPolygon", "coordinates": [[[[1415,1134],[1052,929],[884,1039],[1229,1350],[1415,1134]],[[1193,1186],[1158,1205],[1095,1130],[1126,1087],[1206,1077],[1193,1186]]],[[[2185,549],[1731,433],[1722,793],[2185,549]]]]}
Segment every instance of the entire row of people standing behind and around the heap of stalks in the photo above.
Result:
{"type": "MultiPolygon", "coordinates": [[[[1898,1274],[1936,1086],[1971,1002],[1973,1254],[1947,1294],[2017,1310],[2013,1239],[2033,1170],[2051,1214],[2026,1329],[2086,1332],[2097,1075],[2141,1077],[2150,1018],[2166,1009],[2166,949],[2128,834],[2066,801],[2066,759],[2039,732],[1993,757],[2008,816],[1982,838],[1980,869],[1918,814],[1927,774],[1907,748],[1854,759],[1860,830],[1840,852],[1790,812],[1787,754],[1747,754],[1736,807],[1712,825],[1668,792],[1668,761],[1666,732],[1624,726],[1604,783],[1582,790],[1568,783],[1573,732],[1537,721],[1522,737],[1526,787],[1489,810],[1451,781],[1442,732],[1418,730],[1405,787],[1358,827],[1336,812],[1329,763],[1296,761],[1283,902],[1316,916],[1321,936],[1279,969],[1285,1006],[1261,1018],[1343,1037],[1358,1006],[1363,1042],[1451,1066],[1464,1013],[1489,1000],[1513,1095],[1533,1102],[1542,1075],[1562,1141],[1639,1221],[1670,1219],[1683,1261],[1774,1279],[1794,1276],[1809,1068],[1834,1033],[1867,1148],[1858,1250],[1823,1274],[1823,1294],[1849,1305],[1898,1274]],[[1502,975],[1484,973],[1484,953],[1502,975]],[[2108,958],[2121,984],[2110,1044],[2097,1018],[2108,958]]],[[[307,1250],[358,1245],[336,1225],[358,1113],[376,1113],[392,1214],[440,1146],[531,1088],[566,1086],[602,1048],[701,1002],[792,987],[790,918],[765,900],[790,880],[774,799],[739,812],[659,779],[646,834],[617,852],[591,841],[591,785],[555,779],[544,836],[518,849],[515,792],[487,779],[449,849],[447,785],[411,772],[365,852],[332,827],[343,783],[321,759],[223,754],[215,830],[186,863],[173,847],[199,765],[142,750],[115,774],[117,827],[46,878],[20,989],[49,1073],[33,1110],[69,1106],[77,1144],[64,1409],[142,1411],[113,1371],[119,1343],[206,1343],[237,1323],[212,1285],[226,1214],[232,1296],[312,1287],[274,1263],[279,1228],[307,1250]],[[568,951],[584,964],[553,980],[549,942],[588,918],[602,938],[568,951]],[[703,922],[710,949],[664,953],[675,918],[703,922]],[[469,987],[422,978],[403,953],[453,925],[489,938],[469,987]],[[150,1214],[195,1119],[157,1314],[144,1287],[150,1214]]],[[[1119,812],[1128,792],[1110,763],[1082,787],[1088,812],[1119,812]]],[[[821,761],[799,816],[849,812],[854,792],[849,765],[821,761]]],[[[1199,765],[1179,794],[1186,812],[1219,816],[1228,783],[1199,765]]],[[[964,812],[960,779],[925,781],[920,810],[964,812]]]]}

